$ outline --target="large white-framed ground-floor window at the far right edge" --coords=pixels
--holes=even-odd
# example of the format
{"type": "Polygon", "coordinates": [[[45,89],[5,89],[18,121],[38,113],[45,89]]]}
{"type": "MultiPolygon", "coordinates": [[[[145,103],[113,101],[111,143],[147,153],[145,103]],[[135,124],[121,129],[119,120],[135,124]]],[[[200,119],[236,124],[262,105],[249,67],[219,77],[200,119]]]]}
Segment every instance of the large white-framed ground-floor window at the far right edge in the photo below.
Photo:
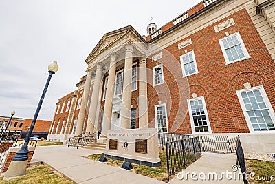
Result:
{"type": "Polygon", "coordinates": [[[275,131],[274,110],[263,86],[236,91],[250,132],[275,131]]]}

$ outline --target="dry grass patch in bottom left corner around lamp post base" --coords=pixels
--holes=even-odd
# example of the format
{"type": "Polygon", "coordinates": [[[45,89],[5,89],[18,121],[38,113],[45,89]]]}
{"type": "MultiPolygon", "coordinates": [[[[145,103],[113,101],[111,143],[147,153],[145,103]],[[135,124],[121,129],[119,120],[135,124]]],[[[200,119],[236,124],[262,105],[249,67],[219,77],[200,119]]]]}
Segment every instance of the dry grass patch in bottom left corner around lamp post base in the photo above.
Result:
{"type": "Polygon", "coordinates": [[[3,181],[3,177],[0,178],[0,183],[3,184],[18,184],[18,183],[74,183],[68,178],[56,172],[47,165],[39,165],[27,169],[27,174],[19,178],[13,178],[9,181],[3,181]]]}

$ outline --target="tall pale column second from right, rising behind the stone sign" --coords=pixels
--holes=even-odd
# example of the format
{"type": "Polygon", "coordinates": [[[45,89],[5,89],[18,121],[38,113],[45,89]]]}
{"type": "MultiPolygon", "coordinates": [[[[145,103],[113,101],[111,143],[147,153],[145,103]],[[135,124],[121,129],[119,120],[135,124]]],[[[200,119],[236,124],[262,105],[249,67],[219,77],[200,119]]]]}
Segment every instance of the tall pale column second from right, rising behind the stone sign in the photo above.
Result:
{"type": "Polygon", "coordinates": [[[130,129],[131,127],[131,99],[132,99],[132,65],[133,65],[133,45],[126,45],[124,80],[122,91],[122,112],[121,128],[130,129]]]}

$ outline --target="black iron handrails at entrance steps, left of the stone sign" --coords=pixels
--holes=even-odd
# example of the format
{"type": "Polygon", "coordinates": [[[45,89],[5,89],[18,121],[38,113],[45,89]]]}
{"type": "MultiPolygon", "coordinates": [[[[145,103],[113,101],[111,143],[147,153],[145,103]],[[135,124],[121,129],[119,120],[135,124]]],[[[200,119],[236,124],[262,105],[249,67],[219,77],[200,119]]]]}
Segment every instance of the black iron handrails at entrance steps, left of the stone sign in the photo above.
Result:
{"type": "Polygon", "coordinates": [[[93,134],[90,134],[90,132],[86,132],[86,135],[79,135],[74,136],[69,139],[68,147],[74,146],[76,149],[78,147],[83,147],[89,143],[93,143],[97,140],[98,132],[94,132],[93,134]]]}

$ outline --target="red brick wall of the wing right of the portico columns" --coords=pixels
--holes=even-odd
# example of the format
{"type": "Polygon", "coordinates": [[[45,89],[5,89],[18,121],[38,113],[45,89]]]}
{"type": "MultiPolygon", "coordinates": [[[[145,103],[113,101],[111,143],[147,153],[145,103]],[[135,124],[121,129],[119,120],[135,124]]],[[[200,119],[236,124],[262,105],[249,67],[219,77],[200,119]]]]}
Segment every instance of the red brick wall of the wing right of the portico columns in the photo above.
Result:
{"type": "MultiPolygon", "coordinates": [[[[195,52],[195,59],[197,61],[197,68],[199,74],[188,76],[188,83],[190,86],[190,96],[192,93],[197,93],[197,96],[204,96],[206,101],[206,108],[210,119],[210,125],[213,133],[221,132],[249,132],[248,125],[245,121],[243,111],[239,99],[236,96],[236,90],[243,89],[243,83],[250,82],[252,86],[263,85],[265,92],[272,104],[275,107],[274,99],[274,61],[270,57],[267,48],[265,47],[259,33],[254,28],[254,25],[248,15],[248,12],[243,9],[236,12],[213,25],[204,28],[174,43],[165,48],[173,54],[177,62],[180,63],[179,57],[185,54],[184,50],[188,52],[195,52]],[[214,25],[217,25],[225,20],[234,18],[235,25],[230,28],[222,30],[221,32],[214,32],[214,25]],[[245,21],[244,21],[245,20],[245,21]],[[239,32],[245,43],[245,47],[250,54],[251,59],[245,59],[236,63],[225,65],[225,59],[221,52],[219,39],[226,37],[225,32],[233,34],[239,32]],[[178,50],[177,44],[192,39],[192,45],[178,50]]],[[[168,119],[169,129],[175,122],[175,114],[179,103],[179,90],[175,84],[177,77],[182,77],[180,64],[173,65],[169,63],[168,56],[163,52],[162,59],[157,60],[158,63],[164,64],[164,81],[171,92],[171,105],[167,104],[167,109],[172,108],[168,119]],[[169,69],[173,70],[171,74],[169,69]]],[[[148,61],[147,67],[149,69],[155,66],[155,62],[148,61]]],[[[148,79],[152,74],[148,74],[148,79]]],[[[163,86],[155,87],[158,92],[165,91],[163,86]]],[[[148,86],[149,122],[154,119],[154,105],[158,104],[158,98],[155,96],[154,89],[148,86]]],[[[160,97],[162,103],[165,99],[160,97]]],[[[186,101],[186,99],[184,99],[186,101]]],[[[184,112],[188,111],[187,103],[184,103],[184,112]]],[[[182,123],[177,133],[191,133],[189,114],[182,123]]]]}

